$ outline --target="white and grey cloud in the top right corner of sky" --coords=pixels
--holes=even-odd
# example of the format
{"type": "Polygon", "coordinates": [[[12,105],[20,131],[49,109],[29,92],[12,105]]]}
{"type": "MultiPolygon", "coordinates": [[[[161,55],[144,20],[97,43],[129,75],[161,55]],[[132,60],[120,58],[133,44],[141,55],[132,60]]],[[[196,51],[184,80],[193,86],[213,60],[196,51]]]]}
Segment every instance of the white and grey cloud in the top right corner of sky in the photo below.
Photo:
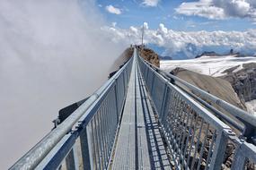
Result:
{"type": "Polygon", "coordinates": [[[199,0],[182,3],[176,12],[209,19],[223,20],[230,17],[249,18],[256,21],[255,0],[199,0]]]}

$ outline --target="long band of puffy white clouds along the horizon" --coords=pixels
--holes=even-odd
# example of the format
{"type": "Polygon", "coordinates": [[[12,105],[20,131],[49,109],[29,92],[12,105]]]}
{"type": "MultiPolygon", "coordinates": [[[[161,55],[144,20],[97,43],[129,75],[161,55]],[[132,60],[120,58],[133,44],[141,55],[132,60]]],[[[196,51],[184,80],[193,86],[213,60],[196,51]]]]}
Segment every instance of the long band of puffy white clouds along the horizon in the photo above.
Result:
{"type": "MultiPolygon", "coordinates": [[[[110,38],[116,42],[125,44],[140,44],[141,27],[130,27],[122,30],[105,27],[103,30],[109,33],[110,38]]],[[[165,55],[174,55],[178,52],[190,50],[191,47],[200,49],[202,47],[230,47],[235,50],[256,51],[256,30],[246,31],[175,31],[168,30],[163,23],[159,24],[157,30],[145,31],[146,44],[154,44],[166,49],[165,55]],[[190,49],[189,49],[190,48],[190,49]]],[[[190,55],[189,56],[194,56],[190,55]]]]}

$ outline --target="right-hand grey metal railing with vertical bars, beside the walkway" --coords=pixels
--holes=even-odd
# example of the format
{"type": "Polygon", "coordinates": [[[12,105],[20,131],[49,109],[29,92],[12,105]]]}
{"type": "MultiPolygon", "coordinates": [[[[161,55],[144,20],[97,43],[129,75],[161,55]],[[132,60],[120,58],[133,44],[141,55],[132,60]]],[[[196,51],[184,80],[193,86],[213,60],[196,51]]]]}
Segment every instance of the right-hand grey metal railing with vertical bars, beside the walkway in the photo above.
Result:
{"type": "MultiPolygon", "coordinates": [[[[182,80],[173,75],[166,77],[141,57],[138,63],[176,169],[231,168],[230,164],[232,169],[255,168],[256,147],[240,140],[226,123],[171,83],[171,79],[182,80]]],[[[220,99],[218,102],[222,103],[220,99]]]]}

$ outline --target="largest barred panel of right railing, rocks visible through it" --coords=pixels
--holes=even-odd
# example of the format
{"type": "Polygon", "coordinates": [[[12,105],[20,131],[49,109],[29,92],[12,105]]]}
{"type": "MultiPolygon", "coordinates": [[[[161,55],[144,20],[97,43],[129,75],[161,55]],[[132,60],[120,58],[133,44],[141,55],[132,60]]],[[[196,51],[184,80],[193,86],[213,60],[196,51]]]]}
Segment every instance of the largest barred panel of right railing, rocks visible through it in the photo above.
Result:
{"type": "Polygon", "coordinates": [[[207,169],[221,131],[197,114],[177,91],[170,89],[165,101],[161,120],[175,166],[207,169]]]}

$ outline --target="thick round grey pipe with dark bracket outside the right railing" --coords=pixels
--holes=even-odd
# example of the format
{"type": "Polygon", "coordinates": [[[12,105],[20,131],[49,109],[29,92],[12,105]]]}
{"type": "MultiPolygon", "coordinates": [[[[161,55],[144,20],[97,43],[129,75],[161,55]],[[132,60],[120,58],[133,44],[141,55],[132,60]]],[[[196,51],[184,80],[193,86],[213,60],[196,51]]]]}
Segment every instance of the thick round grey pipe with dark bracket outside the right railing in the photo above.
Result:
{"type": "MultiPolygon", "coordinates": [[[[173,81],[179,81],[185,87],[199,93],[199,95],[202,98],[207,98],[208,100],[210,100],[211,102],[216,104],[216,106],[220,106],[221,108],[225,109],[225,111],[227,111],[229,114],[231,114],[234,117],[236,117],[237,119],[239,119],[244,124],[244,127],[245,127],[243,129],[243,136],[245,136],[245,137],[255,136],[255,132],[254,132],[256,129],[256,117],[255,116],[250,115],[249,113],[243,111],[241,108],[238,108],[236,106],[229,104],[228,102],[226,102],[223,99],[217,98],[216,96],[209,94],[202,89],[199,89],[198,87],[190,84],[187,81],[181,80],[179,77],[174,76],[171,73],[164,72],[162,69],[154,66],[154,64],[150,64],[149,62],[147,62],[144,59],[142,61],[145,62],[146,64],[149,64],[156,72],[159,72],[164,77],[170,78],[173,81]]],[[[239,127],[240,124],[237,124],[237,126],[239,127]]],[[[249,139],[249,140],[252,140],[252,142],[255,142],[253,139],[249,139]]]]}

